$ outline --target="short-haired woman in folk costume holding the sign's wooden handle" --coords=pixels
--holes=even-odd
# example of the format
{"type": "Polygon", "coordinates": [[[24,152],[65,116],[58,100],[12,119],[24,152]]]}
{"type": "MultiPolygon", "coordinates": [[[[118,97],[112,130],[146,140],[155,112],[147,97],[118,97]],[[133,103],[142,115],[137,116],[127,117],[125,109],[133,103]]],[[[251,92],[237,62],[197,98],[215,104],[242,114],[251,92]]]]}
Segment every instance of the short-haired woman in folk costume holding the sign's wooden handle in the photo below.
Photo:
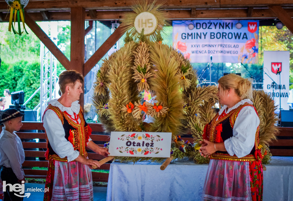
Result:
{"type": "Polygon", "coordinates": [[[59,99],[49,102],[43,116],[47,135],[46,159],[49,160],[45,188],[49,192],[44,200],[93,200],[91,165],[98,161],[88,159],[86,147],[103,156],[107,148],[93,143],[91,128],[84,120],[78,104],[83,92],[81,74],[74,70],[59,75],[62,93],[59,99]]]}

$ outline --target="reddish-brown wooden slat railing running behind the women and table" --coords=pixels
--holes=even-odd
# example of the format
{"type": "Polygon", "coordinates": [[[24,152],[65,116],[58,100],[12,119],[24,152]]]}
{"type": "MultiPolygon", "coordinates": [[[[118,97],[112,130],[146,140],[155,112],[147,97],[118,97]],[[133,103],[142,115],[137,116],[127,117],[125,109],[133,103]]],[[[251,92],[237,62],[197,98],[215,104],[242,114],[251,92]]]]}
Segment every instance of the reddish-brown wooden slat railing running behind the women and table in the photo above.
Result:
{"type": "MultiPolygon", "coordinates": [[[[89,123],[93,131],[91,139],[98,143],[99,146],[104,146],[105,142],[110,141],[110,136],[103,134],[103,128],[101,124],[89,123]]],[[[0,126],[1,127],[1,126],[0,126]]],[[[38,157],[40,161],[25,160],[23,163],[24,172],[26,178],[46,178],[47,170],[34,170],[32,167],[48,167],[48,161],[45,161],[44,155],[46,150],[45,133],[42,122],[23,122],[22,131],[16,134],[23,140],[23,148],[31,148],[34,150],[25,150],[25,157],[38,157]],[[38,132],[31,132],[32,130],[38,132]],[[28,142],[28,139],[40,139],[41,142],[28,142]]],[[[1,130],[1,128],[0,128],[1,130]]],[[[270,143],[270,151],[273,156],[293,156],[293,127],[280,127],[280,134],[277,136],[277,140],[270,143]]],[[[193,141],[193,138],[186,138],[181,136],[184,141],[193,141]]],[[[88,158],[94,160],[101,160],[105,157],[91,153],[88,150],[88,158]]],[[[110,163],[101,165],[101,170],[109,170],[110,163]]],[[[93,181],[108,182],[109,173],[92,172],[93,181]]]]}

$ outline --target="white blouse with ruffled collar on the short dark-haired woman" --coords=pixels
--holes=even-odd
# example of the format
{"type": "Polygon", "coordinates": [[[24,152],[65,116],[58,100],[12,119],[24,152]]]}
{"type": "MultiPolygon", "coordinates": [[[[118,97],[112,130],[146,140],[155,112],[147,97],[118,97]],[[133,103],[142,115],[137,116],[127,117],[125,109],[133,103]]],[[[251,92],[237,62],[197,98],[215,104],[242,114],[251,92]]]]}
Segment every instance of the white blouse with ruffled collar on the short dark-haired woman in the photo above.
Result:
{"type": "MultiPolygon", "coordinates": [[[[64,107],[57,99],[51,100],[49,103],[58,107],[62,112],[66,111],[71,116],[74,116],[74,113],[79,113],[80,105],[78,101],[73,102],[71,107],[64,107]]],[[[81,120],[78,119],[78,122],[80,123],[81,120]]],[[[67,161],[70,162],[79,156],[79,151],[74,150],[71,142],[65,138],[62,122],[53,110],[48,109],[43,115],[43,126],[46,129],[52,149],[60,158],[67,156],[67,161]]],[[[91,141],[91,138],[88,141],[91,141]]]]}

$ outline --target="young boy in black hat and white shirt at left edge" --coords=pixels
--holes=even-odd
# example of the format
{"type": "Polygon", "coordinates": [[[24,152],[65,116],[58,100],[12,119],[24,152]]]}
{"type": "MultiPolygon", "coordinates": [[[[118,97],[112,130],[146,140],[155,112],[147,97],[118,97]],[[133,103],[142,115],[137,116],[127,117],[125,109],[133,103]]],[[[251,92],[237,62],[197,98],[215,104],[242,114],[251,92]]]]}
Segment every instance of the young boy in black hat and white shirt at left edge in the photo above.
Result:
{"type": "Polygon", "coordinates": [[[23,200],[19,197],[20,192],[10,191],[10,186],[22,184],[25,181],[22,163],[24,162],[24,151],[20,138],[14,133],[19,131],[22,116],[25,115],[17,109],[9,108],[1,112],[0,125],[4,124],[0,134],[0,178],[6,183],[4,191],[4,200],[23,200]],[[7,185],[11,184],[11,185],[7,185]],[[16,193],[17,195],[14,195],[16,193]]]}

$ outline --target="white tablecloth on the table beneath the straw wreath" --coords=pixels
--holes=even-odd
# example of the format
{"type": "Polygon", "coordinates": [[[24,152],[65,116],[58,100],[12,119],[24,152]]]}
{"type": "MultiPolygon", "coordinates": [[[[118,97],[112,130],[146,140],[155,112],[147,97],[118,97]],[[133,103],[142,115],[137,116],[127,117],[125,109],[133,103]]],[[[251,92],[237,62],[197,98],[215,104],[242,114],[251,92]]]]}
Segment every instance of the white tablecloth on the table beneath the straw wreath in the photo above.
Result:
{"type": "MultiPolygon", "coordinates": [[[[207,164],[118,163],[110,166],[107,200],[201,200],[207,164]]],[[[293,200],[293,157],[273,157],[265,165],[264,201],[293,200]]]]}

